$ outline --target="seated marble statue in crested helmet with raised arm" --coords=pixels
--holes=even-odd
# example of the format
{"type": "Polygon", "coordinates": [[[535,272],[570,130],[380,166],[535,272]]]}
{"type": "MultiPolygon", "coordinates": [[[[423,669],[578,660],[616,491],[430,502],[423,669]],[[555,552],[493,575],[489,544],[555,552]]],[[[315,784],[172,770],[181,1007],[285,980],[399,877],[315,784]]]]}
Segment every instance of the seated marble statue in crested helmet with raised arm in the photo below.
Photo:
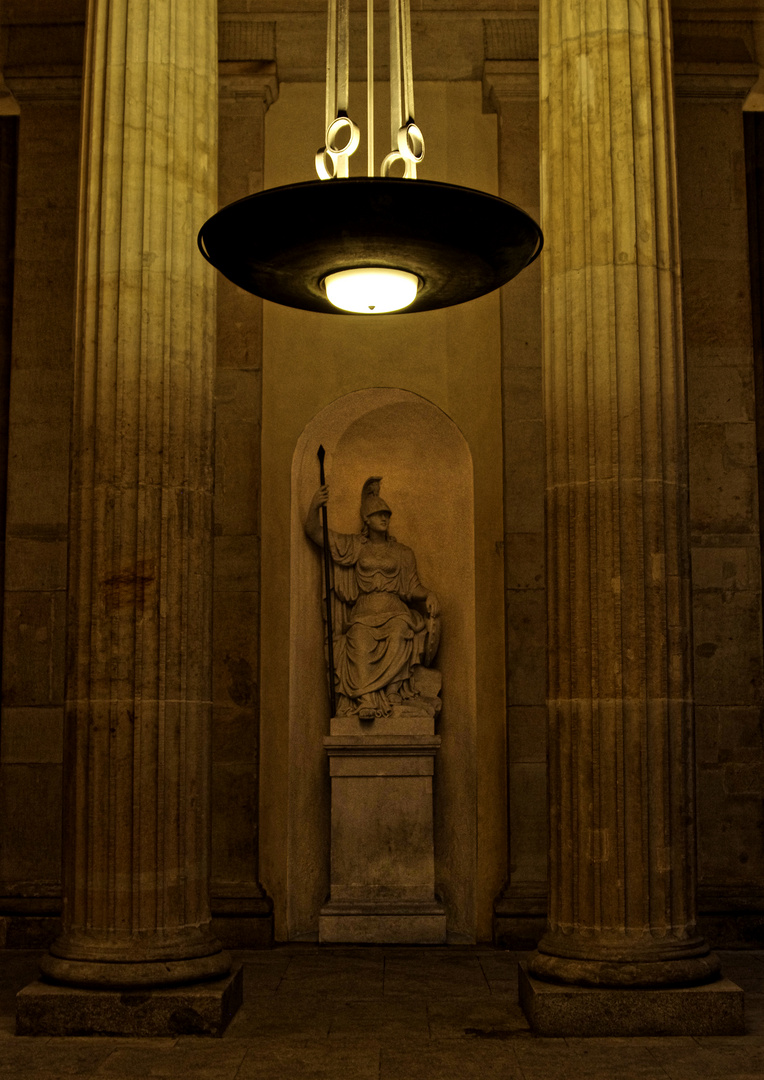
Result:
{"type": "MultiPolygon", "coordinates": [[[[419,581],[411,548],[389,534],[392,511],[381,477],[361,492],[361,531],[329,530],[337,715],[360,719],[440,711],[440,674],[430,669],[440,640],[440,602],[419,581]]],[[[305,531],[323,546],[321,508],[312,498],[305,531]]]]}

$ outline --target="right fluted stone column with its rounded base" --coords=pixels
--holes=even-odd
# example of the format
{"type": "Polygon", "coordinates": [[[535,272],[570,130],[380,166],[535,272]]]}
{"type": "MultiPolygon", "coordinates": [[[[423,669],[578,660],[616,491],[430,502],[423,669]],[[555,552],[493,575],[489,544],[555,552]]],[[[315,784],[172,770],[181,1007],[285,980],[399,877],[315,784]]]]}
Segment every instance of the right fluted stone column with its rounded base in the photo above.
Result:
{"type": "Polygon", "coordinates": [[[541,0],[540,41],[551,842],[528,970],[708,983],[669,3],[541,0]]]}

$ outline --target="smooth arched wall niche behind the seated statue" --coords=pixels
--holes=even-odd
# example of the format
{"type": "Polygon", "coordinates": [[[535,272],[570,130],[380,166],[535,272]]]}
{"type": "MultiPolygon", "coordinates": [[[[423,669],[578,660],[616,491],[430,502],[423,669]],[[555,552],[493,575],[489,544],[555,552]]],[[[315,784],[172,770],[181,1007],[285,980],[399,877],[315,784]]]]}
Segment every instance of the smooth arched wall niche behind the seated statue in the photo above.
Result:
{"type": "Polygon", "coordinates": [[[318,931],[329,893],[330,785],[323,748],[330,706],[323,649],[321,553],[303,522],[326,451],[330,528],[357,532],[361,488],[381,476],[391,534],[414,550],[419,577],[438,593],[443,674],[435,761],[437,890],[452,940],[475,936],[475,617],[472,458],[442,409],[405,390],[359,390],[307,424],[292,460],[287,928],[318,931]]]}

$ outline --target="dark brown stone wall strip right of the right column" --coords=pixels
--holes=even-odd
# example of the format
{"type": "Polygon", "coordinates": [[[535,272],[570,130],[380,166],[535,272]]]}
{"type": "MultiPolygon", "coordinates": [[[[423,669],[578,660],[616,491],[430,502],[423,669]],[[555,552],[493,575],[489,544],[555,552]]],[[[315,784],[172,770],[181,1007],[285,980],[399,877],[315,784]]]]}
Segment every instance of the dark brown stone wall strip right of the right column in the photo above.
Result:
{"type": "Polygon", "coordinates": [[[742,113],[755,68],[739,55],[738,60],[719,73],[691,58],[679,65],[676,129],[689,413],[698,902],[710,937],[745,944],[761,940],[764,926],[764,669],[742,113]]]}

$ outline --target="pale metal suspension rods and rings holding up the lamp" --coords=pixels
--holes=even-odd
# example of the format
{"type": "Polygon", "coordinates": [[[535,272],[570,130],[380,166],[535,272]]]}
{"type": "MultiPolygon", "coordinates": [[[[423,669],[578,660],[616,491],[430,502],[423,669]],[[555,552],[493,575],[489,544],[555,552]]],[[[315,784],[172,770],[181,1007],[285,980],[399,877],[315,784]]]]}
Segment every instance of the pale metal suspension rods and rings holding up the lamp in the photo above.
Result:
{"type": "MultiPolygon", "coordinates": [[[[403,177],[416,179],[416,166],[425,157],[425,139],[414,120],[414,72],[411,49],[410,0],[390,3],[390,152],[380,166],[388,176],[403,162],[403,177]]],[[[347,179],[349,158],[358,149],[361,133],[350,119],[349,0],[329,0],[326,30],[326,140],[316,153],[321,180],[347,179]]],[[[374,176],[374,0],[366,0],[366,175],[374,176]]]]}

